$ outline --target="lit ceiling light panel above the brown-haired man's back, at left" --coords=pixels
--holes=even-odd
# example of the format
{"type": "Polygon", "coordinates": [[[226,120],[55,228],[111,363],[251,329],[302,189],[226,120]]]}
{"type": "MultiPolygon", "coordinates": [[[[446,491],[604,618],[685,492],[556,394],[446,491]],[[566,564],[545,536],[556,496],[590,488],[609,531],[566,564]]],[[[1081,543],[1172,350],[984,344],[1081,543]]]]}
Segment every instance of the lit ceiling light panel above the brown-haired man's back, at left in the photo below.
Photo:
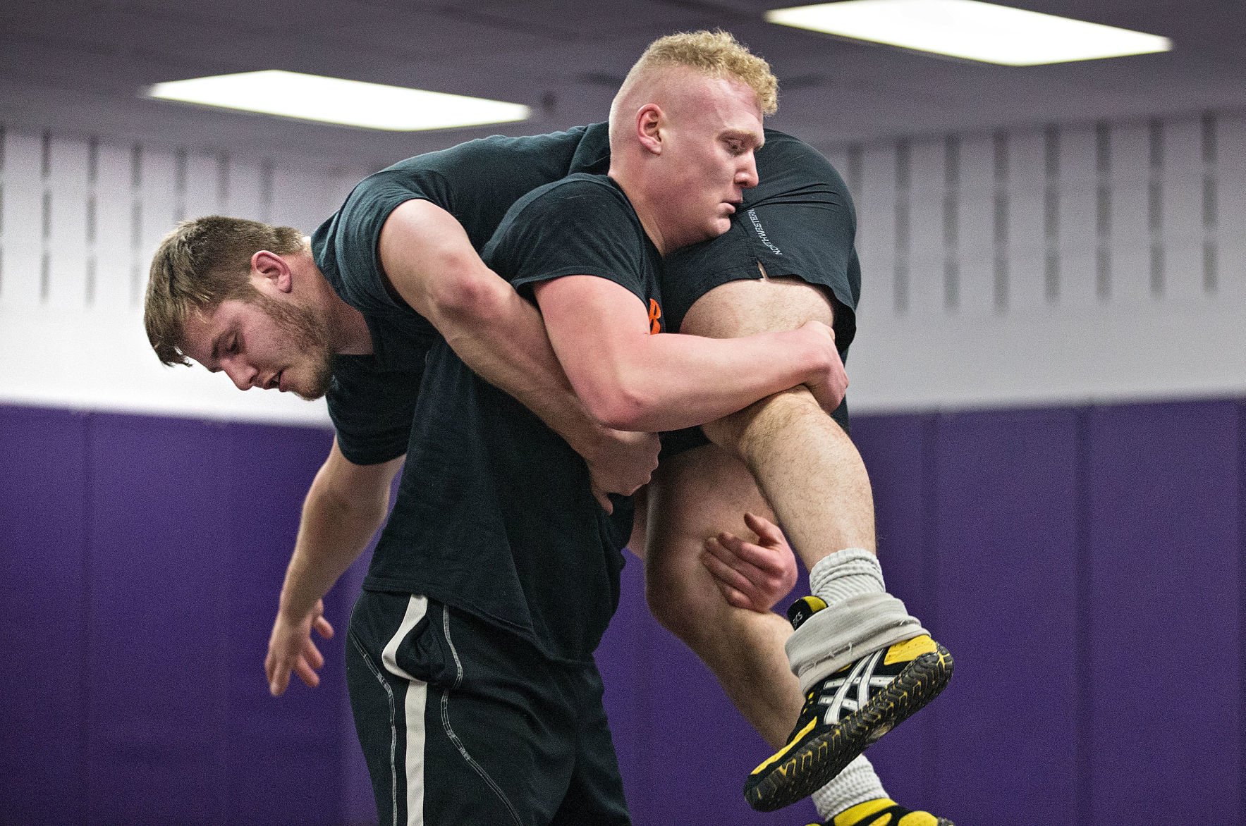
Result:
{"type": "Polygon", "coordinates": [[[530,115],[520,103],[275,69],[156,83],[147,96],[395,132],[507,123],[530,115]]]}

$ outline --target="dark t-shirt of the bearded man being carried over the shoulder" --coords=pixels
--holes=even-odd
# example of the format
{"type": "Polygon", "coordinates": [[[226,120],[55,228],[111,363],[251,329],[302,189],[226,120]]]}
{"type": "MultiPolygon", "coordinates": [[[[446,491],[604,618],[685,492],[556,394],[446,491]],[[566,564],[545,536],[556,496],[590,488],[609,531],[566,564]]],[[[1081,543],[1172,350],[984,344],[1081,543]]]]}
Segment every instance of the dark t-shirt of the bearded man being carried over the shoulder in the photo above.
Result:
{"type": "Polygon", "coordinates": [[[406,451],[425,354],[440,338],[385,278],[378,244],[390,213],[415,198],[429,201],[452,214],[480,250],[521,196],[572,171],[604,171],[608,157],[604,123],[470,141],[364,178],[315,230],[316,265],[343,300],[364,313],[373,336],[373,355],[334,363],[329,416],[348,460],[373,465],[406,451]]]}

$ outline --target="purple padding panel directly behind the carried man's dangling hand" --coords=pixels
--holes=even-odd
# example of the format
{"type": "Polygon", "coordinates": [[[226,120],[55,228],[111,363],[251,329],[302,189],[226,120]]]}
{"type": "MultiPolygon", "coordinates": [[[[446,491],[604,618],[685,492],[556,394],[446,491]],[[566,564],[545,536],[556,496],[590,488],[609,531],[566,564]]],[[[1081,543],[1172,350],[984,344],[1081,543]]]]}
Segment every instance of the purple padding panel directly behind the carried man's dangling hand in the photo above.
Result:
{"type": "Polygon", "coordinates": [[[346,706],[343,643],[349,597],[335,588],[325,614],[336,632],[316,638],[329,663],[320,685],[308,689],[292,678],[274,699],[264,679],[268,634],[277,596],[294,546],[298,503],[329,452],[324,431],[262,425],[231,425],[226,453],[228,553],[224,601],[229,613],[226,715],[226,789],[228,821],[343,822],[344,777],[338,721],[346,706]],[[280,744],[280,748],[263,744],[280,744]]]}

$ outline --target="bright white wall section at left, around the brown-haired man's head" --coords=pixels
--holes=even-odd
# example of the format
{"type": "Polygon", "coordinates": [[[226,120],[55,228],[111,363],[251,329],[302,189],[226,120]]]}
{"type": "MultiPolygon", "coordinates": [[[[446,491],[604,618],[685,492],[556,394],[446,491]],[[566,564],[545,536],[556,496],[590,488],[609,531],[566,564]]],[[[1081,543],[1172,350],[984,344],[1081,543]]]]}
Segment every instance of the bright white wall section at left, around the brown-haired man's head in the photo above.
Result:
{"type": "Polygon", "coordinates": [[[323,402],[164,368],[142,328],[161,237],[223,213],[310,233],[366,171],[19,130],[0,150],[0,402],[323,424],[323,402]]]}

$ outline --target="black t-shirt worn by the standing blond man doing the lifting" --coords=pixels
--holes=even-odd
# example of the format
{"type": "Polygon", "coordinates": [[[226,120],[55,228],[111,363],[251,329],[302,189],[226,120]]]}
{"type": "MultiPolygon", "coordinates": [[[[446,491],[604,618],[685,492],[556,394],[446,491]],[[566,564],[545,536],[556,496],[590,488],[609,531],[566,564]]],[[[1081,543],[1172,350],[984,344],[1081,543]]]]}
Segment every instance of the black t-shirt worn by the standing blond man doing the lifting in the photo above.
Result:
{"type": "MultiPolygon", "coordinates": [[[[521,198],[485,263],[531,295],[596,275],[659,301],[660,257],[609,178],[574,174],[521,198]]],[[[586,662],[618,604],[630,500],[608,516],[588,467],[444,341],[429,351],[406,467],[365,588],[427,594],[512,630],[556,660],[586,662]]]]}

